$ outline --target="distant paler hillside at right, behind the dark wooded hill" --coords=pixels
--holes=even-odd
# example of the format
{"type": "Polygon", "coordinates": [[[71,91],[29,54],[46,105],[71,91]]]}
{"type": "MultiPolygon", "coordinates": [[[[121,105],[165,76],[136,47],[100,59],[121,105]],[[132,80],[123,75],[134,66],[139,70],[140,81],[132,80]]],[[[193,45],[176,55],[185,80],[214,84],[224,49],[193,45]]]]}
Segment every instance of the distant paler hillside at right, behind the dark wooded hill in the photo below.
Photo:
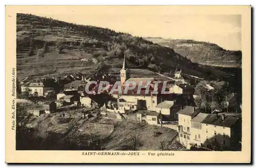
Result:
{"type": "Polygon", "coordinates": [[[163,39],[159,37],[147,37],[145,39],[158,43],[159,45],[170,47],[181,56],[202,65],[221,67],[242,66],[241,51],[224,50],[217,44],[194,40],[163,39]]]}

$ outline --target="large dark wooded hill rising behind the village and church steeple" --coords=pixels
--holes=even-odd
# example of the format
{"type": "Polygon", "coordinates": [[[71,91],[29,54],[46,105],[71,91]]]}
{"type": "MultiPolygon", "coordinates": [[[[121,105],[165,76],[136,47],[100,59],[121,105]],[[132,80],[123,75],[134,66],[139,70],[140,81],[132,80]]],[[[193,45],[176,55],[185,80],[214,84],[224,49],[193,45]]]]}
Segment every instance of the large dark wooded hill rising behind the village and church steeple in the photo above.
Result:
{"type": "Polygon", "coordinates": [[[228,76],[221,70],[193,63],[173,49],[142,37],[31,14],[17,14],[16,23],[18,75],[47,74],[49,70],[60,73],[60,67],[62,71],[74,70],[76,67],[96,66],[100,61],[108,67],[119,68],[125,54],[130,67],[160,73],[182,68],[186,74],[211,79],[228,76]],[[90,58],[96,62],[80,61],[90,58]]]}

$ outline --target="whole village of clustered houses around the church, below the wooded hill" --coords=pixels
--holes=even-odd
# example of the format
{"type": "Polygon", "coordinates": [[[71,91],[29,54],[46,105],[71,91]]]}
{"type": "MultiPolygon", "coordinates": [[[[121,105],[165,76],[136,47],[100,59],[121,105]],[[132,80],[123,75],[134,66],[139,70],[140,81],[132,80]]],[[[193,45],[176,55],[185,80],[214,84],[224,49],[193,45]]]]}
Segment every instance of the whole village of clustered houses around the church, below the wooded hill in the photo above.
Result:
{"type": "MultiPolygon", "coordinates": [[[[195,86],[198,82],[195,81],[200,79],[187,78],[182,69],[176,69],[172,77],[156,74],[158,78],[145,78],[143,74],[141,77],[131,78],[131,70],[124,56],[120,75],[91,71],[90,74],[75,73],[56,78],[24,78],[17,83],[20,88],[19,100],[30,100],[38,105],[27,111],[33,117],[54,114],[60,118],[79,115],[86,121],[132,120],[172,130],[175,136],[167,141],[176,139],[187,150],[241,150],[241,113],[227,113],[220,109],[206,112],[197,107],[194,99],[197,96],[195,86]],[[91,81],[96,83],[87,88],[91,81]],[[99,91],[100,81],[107,81],[108,89],[99,91]],[[154,93],[156,81],[160,83],[157,94],[154,93]],[[133,82],[136,87],[126,92],[122,87],[121,93],[110,92],[116,82],[120,82],[122,86],[127,82],[133,82]],[[160,90],[163,89],[161,84],[164,82],[167,85],[163,94],[160,90]],[[88,94],[87,89],[92,94],[88,94]],[[147,89],[149,91],[146,91],[147,89]]],[[[210,84],[203,87],[208,92],[215,90],[210,84]]],[[[80,122],[78,131],[90,131],[90,127],[99,127],[102,131],[109,132],[109,136],[115,129],[111,125],[101,126],[99,123],[95,126],[89,123],[80,122]]]]}

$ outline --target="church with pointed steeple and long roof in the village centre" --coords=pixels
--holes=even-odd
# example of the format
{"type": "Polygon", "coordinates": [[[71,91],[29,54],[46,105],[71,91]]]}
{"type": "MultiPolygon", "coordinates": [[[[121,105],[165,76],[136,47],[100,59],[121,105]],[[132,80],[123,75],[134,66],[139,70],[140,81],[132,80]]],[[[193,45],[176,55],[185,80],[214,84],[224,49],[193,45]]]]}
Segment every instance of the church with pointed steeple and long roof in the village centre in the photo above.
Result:
{"type": "MultiPolygon", "coordinates": [[[[122,69],[120,70],[120,82],[122,85],[122,94],[113,92],[113,97],[118,99],[118,110],[120,113],[124,113],[125,110],[140,110],[147,109],[150,111],[156,111],[157,105],[161,102],[167,101],[169,94],[161,94],[162,85],[159,84],[158,94],[154,94],[154,81],[158,81],[153,77],[150,78],[130,78],[131,71],[127,66],[127,62],[124,56],[122,69]],[[132,90],[128,90],[124,93],[124,86],[127,82],[135,82],[136,87],[132,90]],[[141,91],[137,92],[138,86],[140,85],[141,91]],[[150,86],[148,86],[150,85],[150,86]],[[146,87],[149,87],[149,91],[146,91],[146,87]]],[[[158,108],[158,111],[159,108],[158,108]]]]}

